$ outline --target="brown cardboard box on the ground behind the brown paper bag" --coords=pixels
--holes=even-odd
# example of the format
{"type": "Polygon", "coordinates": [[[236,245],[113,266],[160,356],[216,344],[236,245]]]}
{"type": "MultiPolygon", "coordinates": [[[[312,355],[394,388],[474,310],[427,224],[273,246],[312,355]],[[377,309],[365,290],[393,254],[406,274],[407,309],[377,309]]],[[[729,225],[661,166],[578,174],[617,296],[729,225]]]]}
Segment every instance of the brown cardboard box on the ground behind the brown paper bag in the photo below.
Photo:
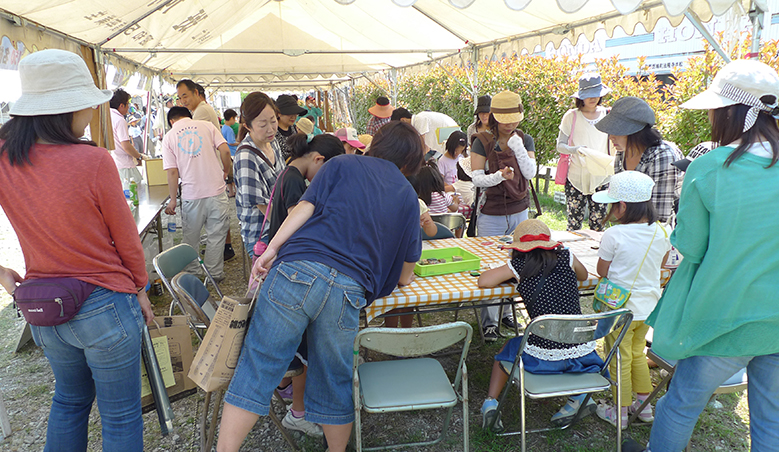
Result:
{"type": "MultiPolygon", "coordinates": [[[[149,335],[152,340],[160,336],[168,338],[170,363],[173,368],[175,384],[167,387],[167,390],[168,398],[173,402],[197,392],[197,385],[187,377],[194,357],[191,330],[187,318],[183,315],[155,317],[155,321],[160,328],[158,329],[155,325],[149,327],[149,335]]],[[[154,397],[151,394],[142,397],[141,407],[144,413],[154,409],[154,397]]]]}

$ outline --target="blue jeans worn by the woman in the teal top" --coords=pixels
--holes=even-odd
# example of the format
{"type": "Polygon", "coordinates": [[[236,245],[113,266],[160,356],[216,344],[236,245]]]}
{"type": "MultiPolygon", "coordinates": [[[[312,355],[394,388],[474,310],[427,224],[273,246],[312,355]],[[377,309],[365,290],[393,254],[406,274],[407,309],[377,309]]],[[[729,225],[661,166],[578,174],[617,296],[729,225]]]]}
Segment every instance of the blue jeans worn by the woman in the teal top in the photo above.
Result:
{"type": "Polygon", "coordinates": [[[711,394],[744,367],[747,368],[752,450],[779,450],[779,353],[776,353],[737,358],[693,356],[680,360],[668,393],[657,402],[649,437],[652,452],[684,450],[711,394]]]}

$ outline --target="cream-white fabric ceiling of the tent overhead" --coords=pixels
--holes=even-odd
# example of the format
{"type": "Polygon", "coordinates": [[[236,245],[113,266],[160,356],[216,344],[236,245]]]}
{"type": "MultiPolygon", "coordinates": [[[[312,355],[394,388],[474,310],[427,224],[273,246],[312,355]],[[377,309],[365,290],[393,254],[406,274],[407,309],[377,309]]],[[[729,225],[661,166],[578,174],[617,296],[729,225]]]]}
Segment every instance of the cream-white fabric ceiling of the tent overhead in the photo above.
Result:
{"type": "Polygon", "coordinates": [[[638,22],[651,29],[659,17],[688,7],[707,21],[737,2],[749,6],[749,0],[4,0],[2,8],[100,45],[109,59],[121,56],[174,78],[294,79],[308,86],[473,46],[492,49],[496,40],[532,50],[604,26],[609,34],[638,22]],[[200,52],[209,50],[219,53],[200,52]]]}

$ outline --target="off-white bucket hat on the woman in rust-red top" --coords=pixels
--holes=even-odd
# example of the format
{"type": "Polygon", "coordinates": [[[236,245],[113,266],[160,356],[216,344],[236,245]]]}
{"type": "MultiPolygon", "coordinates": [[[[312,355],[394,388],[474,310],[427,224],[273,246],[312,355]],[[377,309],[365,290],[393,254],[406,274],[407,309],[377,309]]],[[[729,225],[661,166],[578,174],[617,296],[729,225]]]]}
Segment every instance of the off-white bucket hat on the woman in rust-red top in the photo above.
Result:
{"type": "Polygon", "coordinates": [[[108,102],[113,92],[97,89],[84,60],[59,49],[32,53],[19,63],[22,96],[13,116],[60,115],[108,102]]]}

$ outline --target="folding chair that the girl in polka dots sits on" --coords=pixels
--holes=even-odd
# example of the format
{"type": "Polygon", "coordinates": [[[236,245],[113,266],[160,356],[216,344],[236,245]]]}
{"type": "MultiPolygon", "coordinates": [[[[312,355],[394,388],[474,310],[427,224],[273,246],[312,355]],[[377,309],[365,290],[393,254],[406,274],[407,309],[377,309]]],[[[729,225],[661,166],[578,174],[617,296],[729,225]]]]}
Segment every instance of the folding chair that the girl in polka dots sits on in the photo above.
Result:
{"type": "MultiPolygon", "coordinates": [[[[633,321],[633,314],[628,309],[618,309],[610,312],[588,315],[542,315],[533,319],[525,328],[525,335],[519,346],[519,352],[514,362],[501,361],[503,369],[509,374],[510,378],[506,382],[500,401],[498,402],[497,415],[494,417],[490,429],[493,429],[500,419],[501,408],[506,401],[506,395],[512,383],[519,386],[520,393],[520,430],[516,432],[499,433],[499,436],[522,435],[522,452],[525,452],[526,433],[535,433],[557,428],[566,429],[575,424],[582,415],[582,408],[587,406],[591,394],[605,391],[614,386],[617,393],[617,406],[621,406],[621,397],[619,387],[622,384],[620,372],[616,372],[616,380],[607,377],[609,363],[616,355],[617,368],[622,364],[622,357],[619,353],[619,344],[633,321]],[[525,350],[527,341],[532,335],[543,339],[563,344],[583,344],[600,339],[612,331],[619,331],[614,346],[609,350],[604,360],[603,369],[599,373],[565,373],[559,375],[539,375],[525,372],[522,364],[522,353],[525,350]],[[543,428],[538,430],[525,431],[525,396],[531,399],[542,399],[549,397],[571,396],[576,394],[587,394],[579,407],[579,411],[570,423],[562,427],[543,428]]],[[[622,417],[617,416],[617,451],[620,450],[622,443],[622,417]]]]}

